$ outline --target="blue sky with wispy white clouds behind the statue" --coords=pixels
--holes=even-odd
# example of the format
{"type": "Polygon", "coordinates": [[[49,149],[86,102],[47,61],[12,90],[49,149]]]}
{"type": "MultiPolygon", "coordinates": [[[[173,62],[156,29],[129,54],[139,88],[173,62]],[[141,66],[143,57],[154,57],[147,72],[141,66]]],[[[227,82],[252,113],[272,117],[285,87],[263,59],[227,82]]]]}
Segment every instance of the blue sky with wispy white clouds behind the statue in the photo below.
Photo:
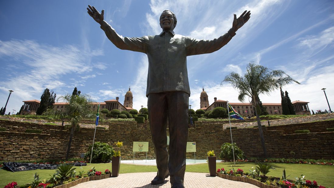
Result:
{"type": "MultiPolygon", "coordinates": [[[[177,34],[214,39],[232,26],[233,14],[251,10],[251,19],[220,50],[190,56],[189,103],[199,109],[204,86],[213,98],[239,102],[238,92],[220,82],[231,71],[242,74],[255,61],[282,69],[301,85],[283,90],[292,101],[307,101],[310,109],[328,110],[321,88],[334,109],[334,3],[331,0],[248,1],[3,1],[0,11],[0,106],[19,111],[25,100],[40,100],[45,88],[57,96],[74,87],[96,102],[120,97],[131,86],[134,108],[147,105],[148,61],[143,53],[120,50],[88,14],[88,4],[127,37],[160,34],[165,9],[177,17],[177,34]]],[[[261,95],[263,103],[280,103],[280,91],[261,95]]],[[[248,101],[248,99],[245,99],[248,101]]]]}

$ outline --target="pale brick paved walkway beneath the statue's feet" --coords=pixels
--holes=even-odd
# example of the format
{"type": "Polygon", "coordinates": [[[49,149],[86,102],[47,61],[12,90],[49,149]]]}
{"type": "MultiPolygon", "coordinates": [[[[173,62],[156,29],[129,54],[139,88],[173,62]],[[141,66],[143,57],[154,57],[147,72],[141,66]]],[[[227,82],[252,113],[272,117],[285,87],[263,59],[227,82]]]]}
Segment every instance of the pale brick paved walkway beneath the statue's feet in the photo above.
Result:
{"type": "MultiPolygon", "coordinates": [[[[156,176],[156,172],[127,173],[118,177],[111,177],[103,180],[80,183],[72,188],[170,188],[169,177],[164,184],[151,185],[151,180],[156,176]]],[[[208,173],[186,172],[184,175],[184,187],[186,188],[258,188],[255,185],[226,180],[220,177],[211,177],[208,173]]]]}

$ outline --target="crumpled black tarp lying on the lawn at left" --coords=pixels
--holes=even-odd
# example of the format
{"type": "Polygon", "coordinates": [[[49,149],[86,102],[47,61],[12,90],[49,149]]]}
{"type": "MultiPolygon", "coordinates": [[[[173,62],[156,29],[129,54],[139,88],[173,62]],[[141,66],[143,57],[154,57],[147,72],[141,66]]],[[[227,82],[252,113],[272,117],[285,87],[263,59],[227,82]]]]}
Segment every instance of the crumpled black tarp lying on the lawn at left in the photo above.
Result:
{"type": "MultiPolygon", "coordinates": [[[[86,163],[75,162],[75,163],[67,163],[73,166],[86,166],[86,163]]],[[[61,164],[32,164],[32,163],[17,163],[17,162],[4,162],[3,168],[11,171],[11,172],[18,172],[18,171],[26,171],[26,170],[36,170],[36,169],[57,169],[58,166],[61,164]]]]}

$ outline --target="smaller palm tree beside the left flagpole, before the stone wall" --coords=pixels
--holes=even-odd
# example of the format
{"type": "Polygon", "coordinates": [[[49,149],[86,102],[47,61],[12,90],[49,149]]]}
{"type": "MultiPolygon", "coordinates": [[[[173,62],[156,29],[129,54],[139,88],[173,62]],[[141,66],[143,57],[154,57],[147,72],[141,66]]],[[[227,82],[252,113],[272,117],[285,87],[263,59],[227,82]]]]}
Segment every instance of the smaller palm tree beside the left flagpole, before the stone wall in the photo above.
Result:
{"type": "Polygon", "coordinates": [[[57,101],[64,101],[67,103],[65,111],[53,111],[48,109],[43,115],[53,115],[57,118],[68,118],[71,123],[71,133],[69,136],[69,142],[66,152],[66,160],[68,159],[69,150],[71,148],[71,143],[74,135],[74,129],[79,127],[79,122],[83,118],[93,119],[95,118],[95,112],[91,111],[92,99],[88,95],[70,95],[66,94],[57,99],[57,101]]]}

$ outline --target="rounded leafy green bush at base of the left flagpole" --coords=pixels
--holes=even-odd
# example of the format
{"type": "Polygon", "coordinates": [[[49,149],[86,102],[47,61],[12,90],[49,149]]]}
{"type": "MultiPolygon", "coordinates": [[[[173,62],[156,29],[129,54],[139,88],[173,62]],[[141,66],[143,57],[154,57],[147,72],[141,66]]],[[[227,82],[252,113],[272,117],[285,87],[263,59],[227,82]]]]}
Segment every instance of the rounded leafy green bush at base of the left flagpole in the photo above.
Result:
{"type": "MultiPolygon", "coordinates": [[[[87,153],[85,154],[85,159],[90,160],[92,153],[92,145],[89,146],[87,153]]],[[[92,162],[93,163],[104,163],[111,161],[114,155],[114,149],[107,143],[96,142],[94,143],[92,162]]]]}

